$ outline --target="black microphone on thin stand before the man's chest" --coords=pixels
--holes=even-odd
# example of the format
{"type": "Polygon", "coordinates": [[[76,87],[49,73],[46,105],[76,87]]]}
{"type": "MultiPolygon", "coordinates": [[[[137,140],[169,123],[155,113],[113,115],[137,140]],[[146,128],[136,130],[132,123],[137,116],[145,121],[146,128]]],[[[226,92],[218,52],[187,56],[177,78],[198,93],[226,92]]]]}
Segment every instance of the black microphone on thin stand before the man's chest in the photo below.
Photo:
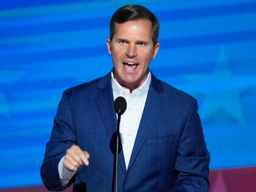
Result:
{"type": "Polygon", "coordinates": [[[118,97],[114,101],[114,108],[115,111],[118,115],[118,129],[117,129],[117,134],[116,134],[116,192],[118,192],[118,143],[119,143],[119,126],[120,126],[120,120],[121,120],[121,115],[124,114],[126,111],[126,99],[123,97],[118,97]]]}

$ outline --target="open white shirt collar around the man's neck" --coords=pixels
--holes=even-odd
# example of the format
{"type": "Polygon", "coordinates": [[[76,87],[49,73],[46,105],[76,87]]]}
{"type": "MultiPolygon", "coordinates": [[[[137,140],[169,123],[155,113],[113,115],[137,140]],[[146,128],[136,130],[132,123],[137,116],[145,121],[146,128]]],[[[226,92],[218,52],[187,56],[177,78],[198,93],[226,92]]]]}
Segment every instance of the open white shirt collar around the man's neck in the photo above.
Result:
{"type": "Polygon", "coordinates": [[[129,88],[121,86],[114,78],[113,70],[111,72],[111,82],[112,82],[112,90],[114,99],[116,99],[118,96],[123,95],[136,95],[136,96],[146,96],[148,94],[149,85],[151,83],[151,72],[149,71],[147,79],[143,82],[143,84],[136,88],[135,90],[130,93],[129,88]]]}

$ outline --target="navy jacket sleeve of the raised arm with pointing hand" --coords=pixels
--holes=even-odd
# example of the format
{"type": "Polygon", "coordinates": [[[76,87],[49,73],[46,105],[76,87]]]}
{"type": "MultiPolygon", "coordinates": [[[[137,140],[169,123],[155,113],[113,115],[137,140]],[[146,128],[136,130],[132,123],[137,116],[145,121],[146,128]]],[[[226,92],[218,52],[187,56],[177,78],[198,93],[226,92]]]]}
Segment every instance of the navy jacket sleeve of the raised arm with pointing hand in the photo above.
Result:
{"type": "Polygon", "coordinates": [[[51,139],[46,144],[44,161],[41,166],[41,179],[48,190],[62,191],[73,182],[74,177],[67,186],[63,186],[58,170],[60,159],[73,144],[76,144],[76,132],[69,109],[68,96],[64,92],[59,103],[57,115],[54,118],[51,139]]]}

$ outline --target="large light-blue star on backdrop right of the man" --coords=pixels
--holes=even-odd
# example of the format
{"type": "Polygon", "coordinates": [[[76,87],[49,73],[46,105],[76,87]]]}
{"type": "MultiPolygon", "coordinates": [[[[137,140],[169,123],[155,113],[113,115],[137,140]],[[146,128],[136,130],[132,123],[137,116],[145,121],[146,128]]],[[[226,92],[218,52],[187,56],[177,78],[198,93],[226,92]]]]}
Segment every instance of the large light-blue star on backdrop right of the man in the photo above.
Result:
{"type": "Polygon", "coordinates": [[[234,75],[223,46],[212,74],[192,74],[185,78],[205,96],[200,111],[202,120],[222,110],[242,126],[247,126],[239,95],[256,84],[256,77],[234,75]]]}

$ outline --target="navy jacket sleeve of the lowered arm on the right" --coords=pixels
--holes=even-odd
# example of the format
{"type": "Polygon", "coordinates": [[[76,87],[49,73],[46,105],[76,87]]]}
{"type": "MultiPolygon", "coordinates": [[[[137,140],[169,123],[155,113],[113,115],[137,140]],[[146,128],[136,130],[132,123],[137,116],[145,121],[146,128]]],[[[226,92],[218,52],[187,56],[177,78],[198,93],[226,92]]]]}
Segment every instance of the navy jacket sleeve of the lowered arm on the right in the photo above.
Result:
{"type": "Polygon", "coordinates": [[[210,154],[194,99],[180,137],[176,158],[176,185],[168,191],[208,191],[210,154]]]}

